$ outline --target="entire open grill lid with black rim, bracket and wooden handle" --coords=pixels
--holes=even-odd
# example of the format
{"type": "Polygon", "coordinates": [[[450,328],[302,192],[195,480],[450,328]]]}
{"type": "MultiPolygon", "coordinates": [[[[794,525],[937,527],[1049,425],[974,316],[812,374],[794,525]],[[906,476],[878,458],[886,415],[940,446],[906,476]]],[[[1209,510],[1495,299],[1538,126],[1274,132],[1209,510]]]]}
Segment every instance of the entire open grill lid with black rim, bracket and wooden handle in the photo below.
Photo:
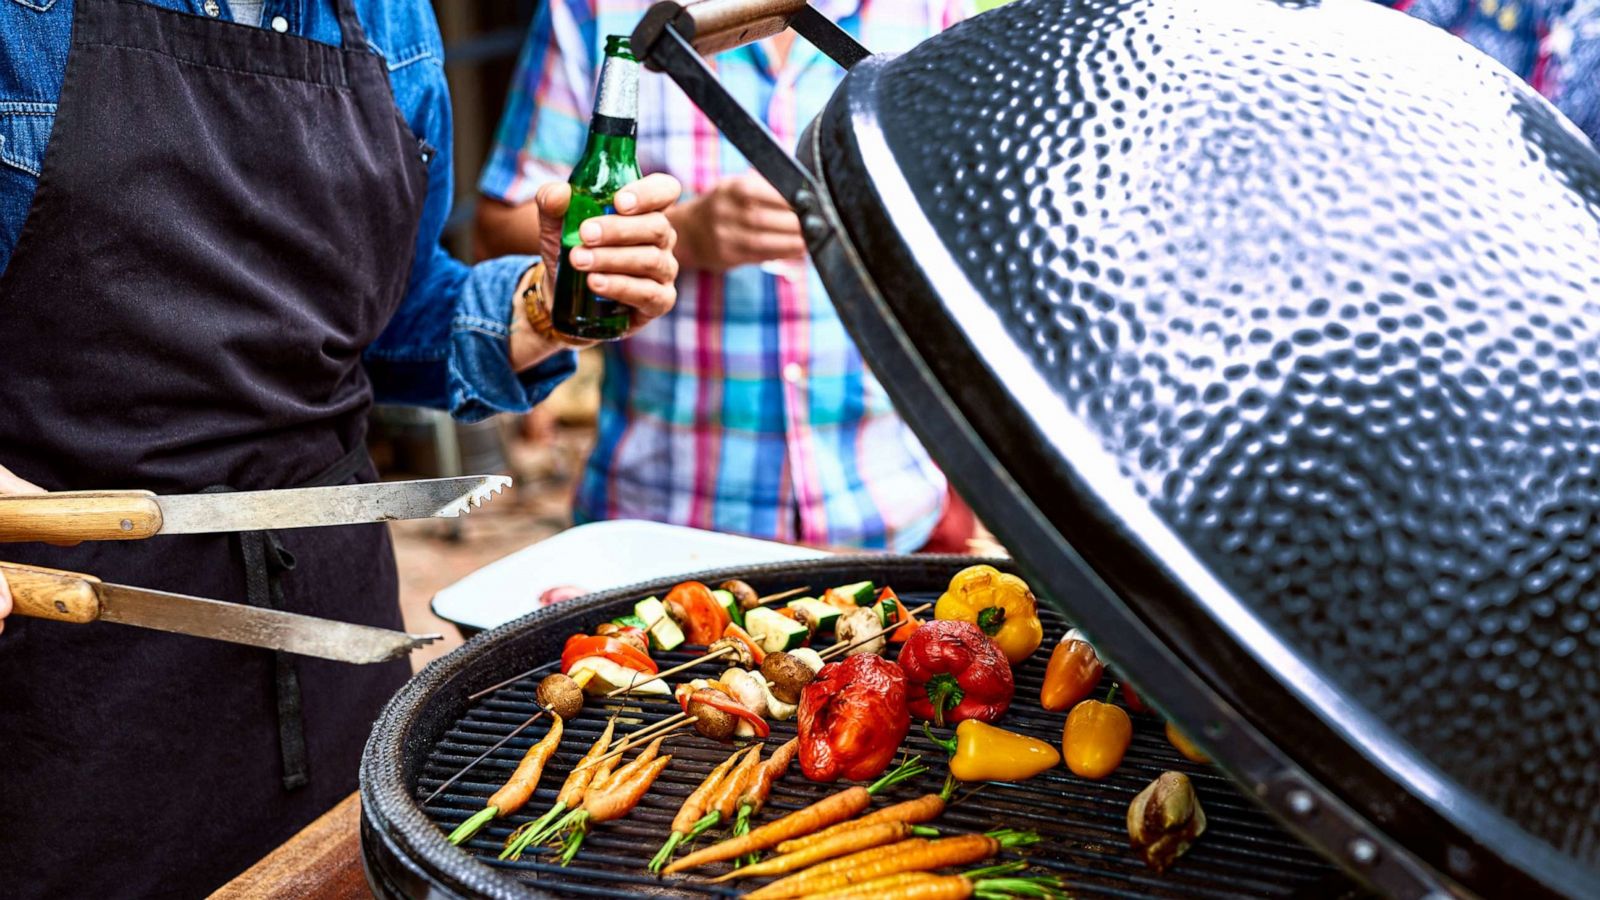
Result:
{"type": "Polygon", "coordinates": [[[1022,573],[1365,886],[1600,886],[1600,154],[1366,0],[1014,0],[870,56],[634,34],[800,215],[1022,573]],[[701,53],[850,69],[798,160],[701,53]]]}

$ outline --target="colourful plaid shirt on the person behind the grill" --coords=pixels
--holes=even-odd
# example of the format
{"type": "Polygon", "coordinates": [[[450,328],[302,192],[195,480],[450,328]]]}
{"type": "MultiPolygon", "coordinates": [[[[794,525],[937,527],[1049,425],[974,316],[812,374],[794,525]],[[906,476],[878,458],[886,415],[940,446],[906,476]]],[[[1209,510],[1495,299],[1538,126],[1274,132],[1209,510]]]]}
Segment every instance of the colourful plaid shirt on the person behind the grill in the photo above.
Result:
{"type": "MultiPolygon", "coordinates": [[[[970,0],[822,0],[869,50],[904,51],[970,0]]],[[[533,24],[480,189],[523,203],[578,162],[605,37],[650,0],[550,0],[533,24]]],[[[773,70],[762,46],[712,61],[739,104],[787,146],[842,70],[805,40],[773,70]]],[[[670,78],[643,72],[638,162],[709,191],[749,168],[670,78]]],[[[685,271],[678,306],[605,349],[598,444],[578,520],[637,517],[827,546],[920,548],[946,480],[827,301],[814,269],[685,271]],[[786,274],[789,272],[789,274],[786,274]]]]}

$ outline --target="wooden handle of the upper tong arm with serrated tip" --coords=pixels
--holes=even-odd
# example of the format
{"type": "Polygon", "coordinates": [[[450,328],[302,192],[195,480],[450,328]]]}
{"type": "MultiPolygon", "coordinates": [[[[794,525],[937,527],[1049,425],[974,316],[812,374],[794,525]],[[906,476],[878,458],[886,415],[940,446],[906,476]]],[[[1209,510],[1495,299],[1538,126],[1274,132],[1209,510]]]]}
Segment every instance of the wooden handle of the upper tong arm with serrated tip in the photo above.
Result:
{"type": "Polygon", "coordinates": [[[147,490],[67,490],[0,496],[0,541],[138,541],[162,530],[147,490]]]}

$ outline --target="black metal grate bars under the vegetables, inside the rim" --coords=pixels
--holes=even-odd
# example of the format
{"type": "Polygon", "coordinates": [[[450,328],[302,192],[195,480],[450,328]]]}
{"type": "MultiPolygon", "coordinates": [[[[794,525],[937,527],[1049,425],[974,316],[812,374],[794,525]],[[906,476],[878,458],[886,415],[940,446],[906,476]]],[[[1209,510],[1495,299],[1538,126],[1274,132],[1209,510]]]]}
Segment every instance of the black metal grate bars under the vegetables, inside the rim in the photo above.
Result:
{"type": "MultiPolygon", "coordinates": [[[[902,596],[907,605],[936,599],[902,596]]],[[[1066,625],[1053,610],[1042,609],[1045,633],[1051,639],[1066,625]]],[[[592,625],[592,623],[589,623],[592,625]]],[[[1000,725],[1029,733],[1059,746],[1064,713],[1038,708],[1038,689],[1048,660],[1050,644],[1016,668],[1016,703],[1000,725]]],[[[662,668],[693,658],[694,653],[656,653],[662,668]]],[[[715,677],[725,666],[707,663],[678,676],[715,677]]],[[[422,804],[445,778],[475,759],[494,741],[523,722],[533,711],[533,689],[538,677],[496,690],[474,705],[445,737],[429,749],[416,786],[422,804]]],[[[677,684],[677,681],[674,682],[677,684]]],[[[1110,676],[1101,695],[1110,687],[1110,676]]],[[[462,849],[478,862],[499,868],[541,890],[568,897],[733,897],[728,886],[704,884],[704,873],[720,873],[725,866],[701,870],[701,874],[658,881],[645,873],[645,863],[667,838],[672,817],[683,798],[693,791],[712,765],[725,759],[730,748],[693,732],[669,738],[662,753],[674,754],[645,801],[624,820],[594,828],[573,865],[552,863],[549,850],[530,850],[517,863],[499,862],[506,836],[518,825],[536,818],[555,801],[566,773],[594,743],[611,708],[590,701],[584,713],[566,724],[562,748],[546,767],[539,791],[520,812],[483,828],[462,849]]],[[[672,713],[667,700],[643,700],[627,706],[618,722],[618,733],[637,730],[672,713]]],[[[990,783],[974,794],[973,786],[957,793],[960,802],[931,825],[952,831],[986,831],[1000,826],[1037,830],[1043,841],[1022,852],[1038,868],[1064,876],[1075,897],[1354,897],[1355,886],[1309,847],[1291,838],[1240,794],[1224,775],[1206,765],[1189,762],[1168,743],[1163,722],[1154,714],[1133,714],[1133,746],[1117,772],[1104,781],[1088,781],[1056,767],[1021,785],[990,783]],[[1125,815],[1128,802],[1149,781],[1168,769],[1189,773],[1205,807],[1205,836],[1165,874],[1149,871],[1128,849],[1125,815]]],[[[773,722],[768,746],[776,748],[795,733],[794,721],[773,722]]],[[[544,735],[544,722],[510,740],[448,791],[422,806],[427,817],[443,831],[483,807],[483,801],[510,775],[522,754],[544,735]]],[[[912,729],[906,741],[910,753],[920,753],[931,772],[907,785],[885,791],[874,802],[882,806],[938,790],[944,780],[944,753],[912,729]]],[[[627,756],[632,757],[632,753],[627,756]]],[[[803,807],[842,785],[813,785],[800,775],[798,762],[773,790],[757,823],[770,822],[792,809],[803,807]]],[[[723,831],[702,838],[720,839],[723,831]]]]}

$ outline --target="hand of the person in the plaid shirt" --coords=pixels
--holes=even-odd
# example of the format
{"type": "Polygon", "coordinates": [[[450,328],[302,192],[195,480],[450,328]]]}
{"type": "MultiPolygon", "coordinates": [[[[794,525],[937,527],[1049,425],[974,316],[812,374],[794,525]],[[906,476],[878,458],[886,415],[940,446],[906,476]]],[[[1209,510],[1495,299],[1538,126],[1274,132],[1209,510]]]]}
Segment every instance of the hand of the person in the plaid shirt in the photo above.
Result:
{"type": "Polygon", "coordinates": [[[723,178],[715,187],[667,211],[678,229],[685,269],[725,272],[774,259],[805,259],[800,216],[758,173],[723,178]]]}

